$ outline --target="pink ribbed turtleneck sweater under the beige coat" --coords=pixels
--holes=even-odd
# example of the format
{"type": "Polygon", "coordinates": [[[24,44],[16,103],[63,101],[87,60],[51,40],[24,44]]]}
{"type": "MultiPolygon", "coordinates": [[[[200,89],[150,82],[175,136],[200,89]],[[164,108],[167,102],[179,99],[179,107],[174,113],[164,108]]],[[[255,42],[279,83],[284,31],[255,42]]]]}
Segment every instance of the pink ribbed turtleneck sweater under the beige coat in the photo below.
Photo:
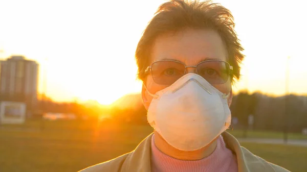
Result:
{"type": "Polygon", "coordinates": [[[217,145],[211,155],[194,161],[179,160],[162,153],[151,139],[151,171],[152,172],[237,172],[236,156],[226,148],[223,137],[217,139],[217,145]]]}

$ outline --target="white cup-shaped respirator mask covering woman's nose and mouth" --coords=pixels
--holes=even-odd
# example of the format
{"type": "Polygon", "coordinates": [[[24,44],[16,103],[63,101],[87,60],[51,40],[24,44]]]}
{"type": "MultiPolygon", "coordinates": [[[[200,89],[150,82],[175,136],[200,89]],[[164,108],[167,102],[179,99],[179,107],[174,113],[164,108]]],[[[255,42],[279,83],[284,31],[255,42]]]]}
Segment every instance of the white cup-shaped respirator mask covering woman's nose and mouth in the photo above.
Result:
{"type": "Polygon", "coordinates": [[[229,128],[228,95],[195,73],[149,94],[153,96],[147,112],[150,126],[178,150],[199,150],[229,128]]]}

